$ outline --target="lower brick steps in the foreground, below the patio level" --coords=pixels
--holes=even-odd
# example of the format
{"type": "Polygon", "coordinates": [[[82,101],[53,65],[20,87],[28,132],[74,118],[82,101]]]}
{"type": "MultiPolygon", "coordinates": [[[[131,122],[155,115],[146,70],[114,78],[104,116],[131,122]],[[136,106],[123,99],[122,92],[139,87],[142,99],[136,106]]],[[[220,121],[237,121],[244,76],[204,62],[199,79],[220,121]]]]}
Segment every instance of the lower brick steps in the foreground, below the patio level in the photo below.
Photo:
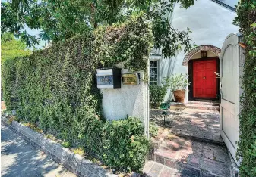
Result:
{"type": "Polygon", "coordinates": [[[231,176],[228,158],[226,148],[223,146],[191,141],[172,135],[166,137],[166,140],[153,152],[150,160],[155,161],[156,163],[153,164],[157,165],[154,168],[153,165],[151,166],[153,168],[151,172],[147,166],[146,174],[162,176],[152,175],[152,171],[159,172],[158,170],[164,169],[160,167],[162,164],[172,169],[173,172],[175,170],[181,172],[182,176],[231,176]]]}

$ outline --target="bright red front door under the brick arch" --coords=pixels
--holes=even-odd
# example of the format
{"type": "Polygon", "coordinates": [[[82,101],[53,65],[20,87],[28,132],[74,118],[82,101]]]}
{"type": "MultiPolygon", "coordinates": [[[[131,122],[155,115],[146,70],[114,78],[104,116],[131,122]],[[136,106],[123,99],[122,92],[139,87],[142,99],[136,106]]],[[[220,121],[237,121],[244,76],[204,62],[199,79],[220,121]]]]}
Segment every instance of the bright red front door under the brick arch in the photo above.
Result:
{"type": "Polygon", "coordinates": [[[216,59],[193,61],[194,98],[216,98],[216,59]]]}

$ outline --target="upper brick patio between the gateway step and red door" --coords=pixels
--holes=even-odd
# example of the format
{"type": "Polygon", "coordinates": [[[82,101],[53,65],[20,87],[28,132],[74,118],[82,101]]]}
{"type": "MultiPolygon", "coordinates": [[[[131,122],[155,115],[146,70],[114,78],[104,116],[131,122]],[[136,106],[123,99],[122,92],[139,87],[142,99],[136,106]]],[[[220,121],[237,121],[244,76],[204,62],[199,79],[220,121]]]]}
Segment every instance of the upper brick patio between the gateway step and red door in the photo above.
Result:
{"type": "Polygon", "coordinates": [[[220,113],[216,110],[150,110],[150,122],[166,127],[172,134],[223,143],[220,137],[220,113]],[[166,123],[163,123],[166,116],[166,123]]]}

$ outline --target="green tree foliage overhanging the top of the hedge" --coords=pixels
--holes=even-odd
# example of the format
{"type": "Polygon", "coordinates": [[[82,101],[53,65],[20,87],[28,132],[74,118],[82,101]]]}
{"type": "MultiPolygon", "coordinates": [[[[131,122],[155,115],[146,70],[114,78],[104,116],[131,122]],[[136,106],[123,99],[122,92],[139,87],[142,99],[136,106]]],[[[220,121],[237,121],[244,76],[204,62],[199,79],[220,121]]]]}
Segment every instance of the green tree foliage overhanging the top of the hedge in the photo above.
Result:
{"type": "Polygon", "coordinates": [[[182,8],[194,4],[194,0],[13,0],[12,4],[2,2],[2,33],[14,33],[26,40],[27,45],[40,39],[58,42],[143,12],[153,23],[154,47],[162,48],[164,57],[172,57],[182,47],[185,52],[191,48],[189,29],[178,31],[170,23],[178,2],[182,8]],[[40,36],[28,34],[24,25],[41,29],[40,36]]]}

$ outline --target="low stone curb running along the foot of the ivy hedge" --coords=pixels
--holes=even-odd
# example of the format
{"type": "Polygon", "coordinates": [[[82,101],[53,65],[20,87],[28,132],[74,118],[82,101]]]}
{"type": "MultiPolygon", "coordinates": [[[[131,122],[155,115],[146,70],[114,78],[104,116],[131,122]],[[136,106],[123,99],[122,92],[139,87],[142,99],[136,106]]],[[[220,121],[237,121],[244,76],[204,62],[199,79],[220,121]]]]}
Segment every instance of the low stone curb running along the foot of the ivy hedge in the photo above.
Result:
{"type": "Polygon", "coordinates": [[[29,127],[24,126],[17,121],[12,121],[11,125],[8,125],[8,119],[5,116],[2,116],[1,122],[14,130],[17,135],[21,135],[25,141],[45,152],[56,163],[61,163],[68,170],[74,172],[74,174],[78,176],[117,177],[117,175],[103,169],[96,163],[92,163],[90,160],[84,159],[81,155],[74,154],[74,152],[70,151],[68,148],[62,147],[62,144],[45,138],[40,133],[33,131],[29,127]]]}

